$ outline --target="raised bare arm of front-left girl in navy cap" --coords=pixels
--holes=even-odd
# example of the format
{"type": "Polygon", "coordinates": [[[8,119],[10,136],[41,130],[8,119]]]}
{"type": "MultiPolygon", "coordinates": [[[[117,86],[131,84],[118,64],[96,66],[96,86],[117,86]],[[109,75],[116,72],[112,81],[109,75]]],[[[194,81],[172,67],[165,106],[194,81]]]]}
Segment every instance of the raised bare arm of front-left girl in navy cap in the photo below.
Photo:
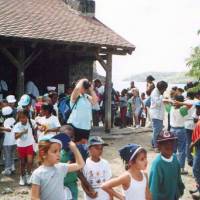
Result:
{"type": "Polygon", "coordinates": [[[76,144],[74,142],[70,142],[69,143],[69,148],[71,149],[71,151],[74,154],[75,157],[75,163],[69,164],[68,166],[68,172],[74,172],[74,171],[78,171],[80,169],[82,169],[84,167],[84,160],[78,150],[78,148],[76,147],[76,144]]]}

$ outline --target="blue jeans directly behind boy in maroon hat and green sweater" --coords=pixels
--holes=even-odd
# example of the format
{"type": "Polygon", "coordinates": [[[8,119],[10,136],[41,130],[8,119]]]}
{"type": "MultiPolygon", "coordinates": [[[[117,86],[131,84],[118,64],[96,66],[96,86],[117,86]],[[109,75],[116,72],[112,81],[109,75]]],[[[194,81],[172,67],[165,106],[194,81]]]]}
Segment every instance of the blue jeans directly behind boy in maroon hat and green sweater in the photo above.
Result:
{"type": "Polygon", "coordinates": [[[186,159],[186,131],[185,128],[174,128],[171,127],[171,132],[173,132],[178,138],[177,144],[175,146],[175,153],[177,154],[177,159],[180,163],[180,167],[185,167],[186,159]],[[178,153],[177,153],[178,152],[178,153]]]}

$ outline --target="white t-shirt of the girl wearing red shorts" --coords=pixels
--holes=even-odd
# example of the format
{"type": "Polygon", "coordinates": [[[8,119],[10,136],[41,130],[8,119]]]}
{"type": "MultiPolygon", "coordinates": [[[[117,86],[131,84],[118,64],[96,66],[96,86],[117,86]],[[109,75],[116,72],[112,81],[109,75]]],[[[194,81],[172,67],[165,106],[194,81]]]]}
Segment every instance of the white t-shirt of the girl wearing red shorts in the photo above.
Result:
{"type": "MultiPolygon", "coordinates": [[[[32,122],[33,127],[35,128],[36,127],[35,121],[31,119],[31,122],[32,122]]],[[[16,134],[26,129],[28,129],[28,132],[23,134],[20,138],[17,139],[18,147],[27,147],[35,143],[34,138],[33,138],[32,128],[29,122],[27,122],[25,125],[23,125],[21,122],[18,122],[17,124],[15,124],[13,128],[13,132],[16,134]]]]}

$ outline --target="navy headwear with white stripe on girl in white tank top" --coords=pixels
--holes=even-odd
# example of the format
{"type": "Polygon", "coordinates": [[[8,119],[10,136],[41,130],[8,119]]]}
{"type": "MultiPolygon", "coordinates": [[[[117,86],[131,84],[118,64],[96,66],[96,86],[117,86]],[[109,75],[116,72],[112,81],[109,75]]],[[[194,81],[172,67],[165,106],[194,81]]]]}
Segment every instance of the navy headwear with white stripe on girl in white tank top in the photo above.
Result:
{"type": "Polygon", "coordinates": [[[122,160],[129,162],[137,155],[137,153],[144,149],[138,144],[127,144],[119,150],[119,155],[122,160]]]}

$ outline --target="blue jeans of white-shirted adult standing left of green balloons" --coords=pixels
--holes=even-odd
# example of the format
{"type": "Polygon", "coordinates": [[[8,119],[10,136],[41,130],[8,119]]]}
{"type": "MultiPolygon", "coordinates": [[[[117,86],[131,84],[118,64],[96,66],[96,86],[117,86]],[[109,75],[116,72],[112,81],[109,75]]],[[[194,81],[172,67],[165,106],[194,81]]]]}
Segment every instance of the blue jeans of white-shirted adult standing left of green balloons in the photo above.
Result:
{"type": "Polygon", "coordinates": [[[157,137],[163,129],[163,120],[152,119],[152,128],[153,128],[152,145],[155,148],[157,147],[157,142],[156,142],[157,137]]]}

